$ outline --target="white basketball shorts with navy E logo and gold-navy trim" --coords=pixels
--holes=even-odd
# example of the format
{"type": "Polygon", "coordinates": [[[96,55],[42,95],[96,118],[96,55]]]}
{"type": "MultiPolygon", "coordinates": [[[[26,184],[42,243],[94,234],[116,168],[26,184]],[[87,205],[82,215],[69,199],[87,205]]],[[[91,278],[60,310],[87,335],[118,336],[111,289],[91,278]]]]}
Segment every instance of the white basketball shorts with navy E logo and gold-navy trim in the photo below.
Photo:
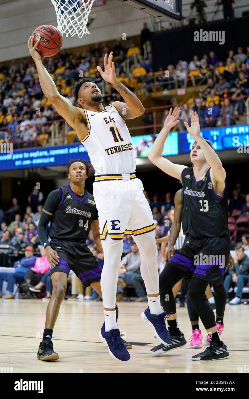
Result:
{"type": "Polygon", "coordinates": [[[136,236],[156,228],[143,190],[135,173],[95,176],[93,196],[101,240],[107,234],[113,240],[121,240],[124,234],[136,236]]]}

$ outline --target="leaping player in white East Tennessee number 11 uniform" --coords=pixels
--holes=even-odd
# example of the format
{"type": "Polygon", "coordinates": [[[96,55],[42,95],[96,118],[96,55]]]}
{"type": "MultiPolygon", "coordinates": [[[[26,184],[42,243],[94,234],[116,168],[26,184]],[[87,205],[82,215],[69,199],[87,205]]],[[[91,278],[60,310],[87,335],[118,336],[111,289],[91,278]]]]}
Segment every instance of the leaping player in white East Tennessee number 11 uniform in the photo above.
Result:
{"type": "Polygon", "coordinates": [[[104,108],[101,92],[95,82],[83,79],[75,86],[78,106],[74,107],[58,93],[36,51],[38,43],[39,40],[34,45],[34,37],[30,37],[28,48],[36,63],[41,89],[59,115],[75,129],[95,169],[93,195],[99,213],[104,251],[101,290],[105,322],[99,337],[107,345],[111,357],[127,361],[130,354],[120,338],[115,316],[118,270],[125,233],[133,235],[141,256],[140,270],[148,295],[148,308],[141,317],[150,324],[160,342],[171,342],[164,321],[166,312],[162,313],[160,306],[156,226],[143,194],[142,182],[136,178],[132,141],[124,122],[125,119],[142,115],[144,107],[136,95],[117,80],[112,52],[108,59],[105,55],[105,71],[99,66],[97,69],[102,78],[121,94],[125,103],[115,101],[104,108]]]}

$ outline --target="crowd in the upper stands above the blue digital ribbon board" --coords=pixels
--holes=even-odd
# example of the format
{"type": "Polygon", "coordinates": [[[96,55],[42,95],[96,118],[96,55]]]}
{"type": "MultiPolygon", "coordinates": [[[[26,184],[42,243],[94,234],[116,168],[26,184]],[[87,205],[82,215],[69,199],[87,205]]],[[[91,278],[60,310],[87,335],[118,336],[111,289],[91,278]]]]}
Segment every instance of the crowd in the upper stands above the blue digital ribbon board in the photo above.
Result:
{"type": "MultiPolygon", "coordinates": [[[[150,31],[144,25],[141,47],[130,40],[118,40],[113,48],[96,43],[83,53],[77,51],[73,55],[61,50],[55,57],[45,58],[43,63],[59,93],[74,103],[75,83],[82,77],[90,77],[103,93],[104,107],[113,101],[122,101],[111,85],[103,85],[105,82],[97,70],[97,65],[104,69],[105,53],[113,51],[118,79],[131,91],[151,93],[206,85],[196,99],[181,105],[180,130],[185,129],[182,122],[189,119],[192,109],[199,115],[201,128],[235,124],[245,111],[245,99],[249,95],[249,47],[231,49],[226,59],[210,51],[202,57],[194,55],[188,62],[180,59],[176,66],[168,65],[166,71],[162,67],[154,71],[148,41],[150,31]]],[[[13,60],[10,66],[0,64],[0,143],[14,143],[14,149],[44,146],[55,121],[59,121],[56,126],[62,134],[63,120],[43,95],[34,62],[28,59],[20,63],[13,60]]],[[[68,142],[77,141],[69,136],[68,142]]]]}

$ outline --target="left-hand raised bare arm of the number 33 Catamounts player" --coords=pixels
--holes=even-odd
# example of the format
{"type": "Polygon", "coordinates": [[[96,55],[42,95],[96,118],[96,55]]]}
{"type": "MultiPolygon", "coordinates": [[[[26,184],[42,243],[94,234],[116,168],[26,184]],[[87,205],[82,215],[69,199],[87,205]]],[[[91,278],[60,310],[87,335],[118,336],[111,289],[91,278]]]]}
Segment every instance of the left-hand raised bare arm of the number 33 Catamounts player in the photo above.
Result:
{"type": "Polygon", "coordinates": [[[156,165],[163,172],[167,173],[172,177],[175,177],[178,180],[182,180],[181,176],[182,171],[184,170],[184,168],[186,168],[186,166],[173,164],[168,159],[162,156],[162,151],[164,148],[166,138],[168,137],[168,134],[170,132],[170,129],[179,122],[178,118],[180,112],[181,112],[180,108],[176,107],[173,112],[172,108],[170,108],[170,112],[164,121],[164,126],[160,131],[160,133],[158,134],[153,144],[153,147],[150,151],[150,154],[148,156],[152,164],[156,165]]]}

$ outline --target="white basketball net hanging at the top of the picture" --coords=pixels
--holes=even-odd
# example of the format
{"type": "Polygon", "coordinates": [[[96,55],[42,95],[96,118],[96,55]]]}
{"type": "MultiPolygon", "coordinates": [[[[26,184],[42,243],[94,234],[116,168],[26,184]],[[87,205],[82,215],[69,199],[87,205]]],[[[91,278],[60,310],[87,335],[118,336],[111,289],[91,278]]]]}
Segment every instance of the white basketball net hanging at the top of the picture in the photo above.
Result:
{"type": "Polygon", "coordinates": [[[89,34],[87,29],[88,16],[94,0],[51,0],[55,7],[57,28],[66,37],[89,34]]]}

